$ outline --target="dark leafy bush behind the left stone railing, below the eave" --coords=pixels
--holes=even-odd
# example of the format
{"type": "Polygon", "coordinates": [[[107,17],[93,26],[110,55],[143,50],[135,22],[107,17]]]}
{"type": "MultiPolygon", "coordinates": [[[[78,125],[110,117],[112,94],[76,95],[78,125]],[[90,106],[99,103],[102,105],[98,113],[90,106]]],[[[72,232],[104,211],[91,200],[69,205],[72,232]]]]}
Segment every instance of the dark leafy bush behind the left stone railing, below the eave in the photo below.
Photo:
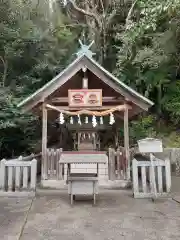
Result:
{"type": "Polygon", "coordinates": [[[0,152],[2,157],[30,153],[39,138],[38,119],[17,109],[18,99],[9,89],[0,91],[0,152]]]}

